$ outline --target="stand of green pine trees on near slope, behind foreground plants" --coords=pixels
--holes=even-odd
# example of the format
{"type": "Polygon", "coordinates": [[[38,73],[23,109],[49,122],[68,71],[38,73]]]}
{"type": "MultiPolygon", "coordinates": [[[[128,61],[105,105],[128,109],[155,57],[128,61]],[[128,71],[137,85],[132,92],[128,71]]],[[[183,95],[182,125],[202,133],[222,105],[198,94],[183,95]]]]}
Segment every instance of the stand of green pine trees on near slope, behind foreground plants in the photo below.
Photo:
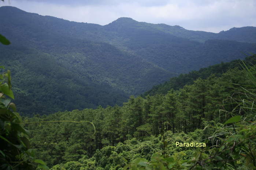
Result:
{"type": "MultiPolygon", "coordinates": [[[[163,148],[167,154],[185,150],[188,152],[186,158],[192,158],[195,148],[177,148],[174,142],[207,139],[231,116],[227,112],[220,113],[220,110],[231,111],[235,107],[233,103],[223,105],[223,100],[234,93],[232,84],[245,82],[246,73],[234,68],[219,77],[212,74],[206,79],[197,78],[193,84],[169,90],[167,94],[145,98],[131,96],[122,107],[116,105],[57,112],[48,116],[35,115],[33,118],[25,117],[24,122],[87,120],[95,125],[96,133],[93,134],[94,128],[89,123],[28,124],[26,128],[31,132],[30,141],[36,148],[37,157],[50,167],[59,164],[55,167],[68,169],[72,164],[77,169],[89,169],[89,166],[91,169],[121,169],[134,158],[149,160],[154,152],[163,148]],[[215,128],[199,130],[207,125],[215,128]],[[167,136],[163,139],[167,140],[164,145],[161,141],[163,136],[167,136]],[[137,147],[140,149],[134,151],[137,147]]],[[[212,146],[216,140],[208,141],[207,146],[212,146]]]]}

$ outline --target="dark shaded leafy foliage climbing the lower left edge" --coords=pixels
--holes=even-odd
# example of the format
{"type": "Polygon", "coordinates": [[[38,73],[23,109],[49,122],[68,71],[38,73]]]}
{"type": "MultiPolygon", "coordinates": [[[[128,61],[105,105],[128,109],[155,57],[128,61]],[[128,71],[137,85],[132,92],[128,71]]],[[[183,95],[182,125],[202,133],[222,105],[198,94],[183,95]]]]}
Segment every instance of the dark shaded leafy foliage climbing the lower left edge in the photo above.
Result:
{"type": "Polygon", "coordinates": [[[44,161],[34,158],[29,133],[22,127],[21,117],[9,98],[14,98],[11,87],[11,73],[8,70],[0,75],[0,169],[32,170],[36,168],[36,164],[43,169],[49,169],[44,161]]]}

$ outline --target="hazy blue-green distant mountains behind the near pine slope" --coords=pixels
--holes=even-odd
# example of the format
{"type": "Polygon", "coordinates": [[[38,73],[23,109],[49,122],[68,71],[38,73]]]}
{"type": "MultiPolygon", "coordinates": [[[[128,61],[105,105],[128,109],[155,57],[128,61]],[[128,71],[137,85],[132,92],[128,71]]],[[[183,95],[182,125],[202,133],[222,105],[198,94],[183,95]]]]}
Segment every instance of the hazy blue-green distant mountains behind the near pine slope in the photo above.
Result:
{"type": "Polygon", "coordinates": [[[120,105],[180,73],[256,53],[256,27],[215,34],[131,18],[77,23],[15,7],[0,14],[12,43],[0,46],[1,65],[28,114],[120,105]]]}

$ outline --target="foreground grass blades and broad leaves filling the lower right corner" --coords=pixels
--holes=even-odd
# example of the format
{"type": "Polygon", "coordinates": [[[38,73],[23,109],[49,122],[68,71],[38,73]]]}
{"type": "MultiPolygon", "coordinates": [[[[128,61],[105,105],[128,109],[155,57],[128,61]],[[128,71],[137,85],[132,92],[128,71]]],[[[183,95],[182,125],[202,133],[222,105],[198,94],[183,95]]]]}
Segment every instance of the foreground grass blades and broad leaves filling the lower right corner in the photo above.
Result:
{"type": "Polygon", "coordinates": [[[170,157],[156,153],[150,161],[137,158],[124,169],[256,169],[256,66],[243,65],[246,80],[243,85],[233,84],[234,93],[225,103],[225,106],[231,103],[232,107],[220,109],[224,118],[236,116],[230,117],[222,127],[211,126],[218,129],[207,138],[212,140],[212,147],[194,152],[190,159],[184,158],[184,152],[176,152],[170,157]],[[179,154],[183,157],[177,157],[179,154]]]}

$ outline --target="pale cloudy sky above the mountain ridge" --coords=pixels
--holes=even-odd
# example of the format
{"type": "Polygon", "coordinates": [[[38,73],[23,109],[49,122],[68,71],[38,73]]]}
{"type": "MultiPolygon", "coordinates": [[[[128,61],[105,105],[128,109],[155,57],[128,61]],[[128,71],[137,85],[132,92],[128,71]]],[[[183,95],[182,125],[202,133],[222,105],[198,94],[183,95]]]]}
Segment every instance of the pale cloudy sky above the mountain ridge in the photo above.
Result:
{"type": "Polygon", "coordinates": [[[256,26],[256,0],[5,0],[27,12],[105,25],[120,17],[219,32],[256,26]]]}

